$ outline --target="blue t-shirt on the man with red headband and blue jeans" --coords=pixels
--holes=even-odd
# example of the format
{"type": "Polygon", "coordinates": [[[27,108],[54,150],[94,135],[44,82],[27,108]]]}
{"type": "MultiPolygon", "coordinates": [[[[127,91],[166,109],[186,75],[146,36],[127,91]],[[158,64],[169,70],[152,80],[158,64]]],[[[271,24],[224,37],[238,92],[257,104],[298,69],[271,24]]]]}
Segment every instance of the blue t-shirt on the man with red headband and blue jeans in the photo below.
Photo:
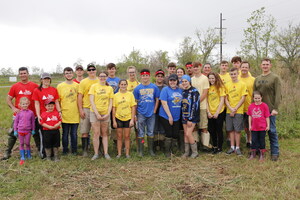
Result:
{"type": "Polygon", "coordinates": [[[158,87],[153,83],[136,86],[133,90],[133,95],[137,100],[137,111],[145,117],[151,117],[154,112],[155,100],[159,98],[159,94],[158,87]]]}

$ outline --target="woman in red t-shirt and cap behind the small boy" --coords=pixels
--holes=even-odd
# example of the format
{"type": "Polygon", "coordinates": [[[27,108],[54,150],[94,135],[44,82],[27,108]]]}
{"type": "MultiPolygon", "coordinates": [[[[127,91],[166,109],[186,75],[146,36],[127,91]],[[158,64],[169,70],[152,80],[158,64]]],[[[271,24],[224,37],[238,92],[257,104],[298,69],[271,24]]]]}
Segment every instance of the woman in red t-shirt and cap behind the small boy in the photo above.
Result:
{"type": "MultiPolygon", "coordinates": [[[[46,112],[47,109],[45,107],[45,102],[48,101],[54,101],[55,102],[55,109],[61,114],[61,109],[59,105],[59,97],[58,92],[56,88],[51,87],[51,76],[49,73],[43,73],[41,75],[41,83],[38,88],[35,88],[32,94],[32,100],[34,100],[34,106],[36,115],[38,117],[39,123],[41,122],[42,118],[41,115],[43,112],[46,112]]],[[[43,131],[40,128],[41,131],[39,131],[40,137],[43,138],[43,131]]],[[[43,140],[41,140],[43,141],[43,140]]],[[[42,157],[45,157],[45,150],[44,145],[41,144],[40,147],[40,153],[42,157]]],[[[57,154],[58,152],[54,152],[54,154],[57,154]]]]}

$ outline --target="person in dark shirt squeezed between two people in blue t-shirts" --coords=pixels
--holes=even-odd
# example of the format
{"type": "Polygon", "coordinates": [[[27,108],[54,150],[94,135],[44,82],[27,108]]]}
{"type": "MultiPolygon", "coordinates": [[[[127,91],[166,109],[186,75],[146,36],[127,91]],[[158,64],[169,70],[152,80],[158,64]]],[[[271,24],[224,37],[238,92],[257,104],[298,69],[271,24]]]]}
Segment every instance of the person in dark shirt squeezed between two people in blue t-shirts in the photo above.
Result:
{"type": "MultiPolygon", "coordinates": [[[[155,85],[158,87],[160,92],[166,86],[166,84],[164,83],[165,80],[166,80],[165,72],[162,69],[157,70],[155,72],[155,85]]],[[[160,106],[161,103],[159,101],[157,110],[159,110],[160,106]]],[[[156,150],[157,147],[159,147],[159,149],[162,150],[164,148],[163,147],[164,140],[165,140],[165,130],[159,121],[159,115],[157,112],[155,116],[155,126],[154,126],[154,150],[156,150]]]]}

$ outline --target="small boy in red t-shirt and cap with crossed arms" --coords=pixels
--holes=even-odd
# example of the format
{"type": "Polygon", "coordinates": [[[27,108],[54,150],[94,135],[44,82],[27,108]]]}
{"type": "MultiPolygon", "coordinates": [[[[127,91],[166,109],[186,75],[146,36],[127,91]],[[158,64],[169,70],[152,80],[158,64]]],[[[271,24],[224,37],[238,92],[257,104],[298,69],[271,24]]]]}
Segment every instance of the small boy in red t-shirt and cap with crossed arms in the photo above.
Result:
{"type": "Polygon", "coordinates": [[[58,148],[60,146],[59,128],[61,125],[61,117],[57,110],[54,109],[55,102],[52,100],[45,101],[46,112],[41,115],[41,125],[43,127],[43,139],[46,151],[46,159],[51,160],[51,152],[53,150],[54,161],[59,161],[58,148]]]}

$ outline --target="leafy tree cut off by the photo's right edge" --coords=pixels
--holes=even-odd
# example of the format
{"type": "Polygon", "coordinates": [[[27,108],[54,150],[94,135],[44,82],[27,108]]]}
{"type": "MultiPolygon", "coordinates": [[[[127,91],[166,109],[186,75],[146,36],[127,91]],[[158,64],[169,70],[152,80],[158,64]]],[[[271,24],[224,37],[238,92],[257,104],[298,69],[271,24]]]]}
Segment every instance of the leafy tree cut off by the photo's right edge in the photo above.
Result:
{"type": "Polygon", "coordinates": [[[292,74],[300,76],[300,24],[291,23],[274,36],[276,48],[274,54],[282,61],[292,74]]]}

